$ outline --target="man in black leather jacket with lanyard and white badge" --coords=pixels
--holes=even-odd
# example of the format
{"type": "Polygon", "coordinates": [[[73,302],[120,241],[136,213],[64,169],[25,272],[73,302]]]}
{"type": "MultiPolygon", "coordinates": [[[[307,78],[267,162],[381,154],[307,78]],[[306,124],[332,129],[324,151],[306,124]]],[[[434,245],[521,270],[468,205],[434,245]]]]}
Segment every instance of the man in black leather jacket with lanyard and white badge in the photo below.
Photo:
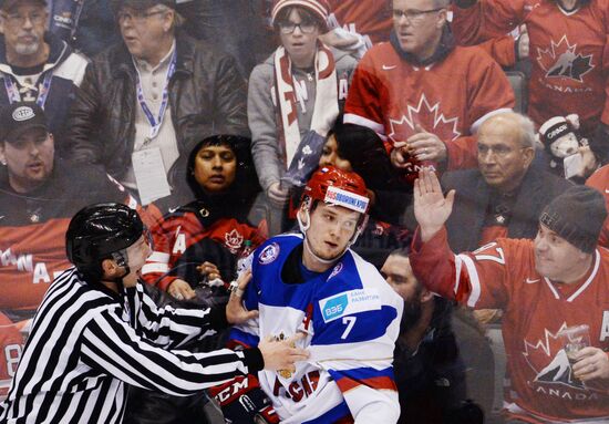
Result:
{"type": "Polygon", "coordinates": [[[103,164],[143,200],[169,194],[165,176],[200,139],[248,132],[234,59],[176,32],[175,3],[113,2],[123,42],[87,68],[69,122],[74,159],[103,164]],[[151,176],[163,177],[153,193],[151,176]]]}

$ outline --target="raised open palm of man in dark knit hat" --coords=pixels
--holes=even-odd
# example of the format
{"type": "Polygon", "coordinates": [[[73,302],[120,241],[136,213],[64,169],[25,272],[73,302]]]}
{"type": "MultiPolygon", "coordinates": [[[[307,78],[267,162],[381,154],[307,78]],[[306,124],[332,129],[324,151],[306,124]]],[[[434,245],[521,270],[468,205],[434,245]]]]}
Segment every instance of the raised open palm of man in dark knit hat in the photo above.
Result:
{"type": "Polygon", "coordinates": [[[453,210],[455,190],[444,197],[437,176],[423,168],[414,182],[414,216],[421,227],[421,240],[429,241],[446,223],[453,210]]]}

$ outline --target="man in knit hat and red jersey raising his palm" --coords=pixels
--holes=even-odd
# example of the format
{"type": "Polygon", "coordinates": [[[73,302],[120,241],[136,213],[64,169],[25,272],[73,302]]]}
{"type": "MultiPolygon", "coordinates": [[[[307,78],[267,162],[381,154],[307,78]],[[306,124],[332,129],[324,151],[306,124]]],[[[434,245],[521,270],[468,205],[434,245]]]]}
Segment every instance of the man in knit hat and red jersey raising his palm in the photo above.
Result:
{"type": "Polygon", "coordinates": [[[597,248],[607,217],[593,188],[574,186],[539,217],[535,240],[499,238],[474,252],[448,249],[444,223],[454,190],[436,176],[414,187],[419,229],[411,263],[432,291],[471,308],[504,310],[509,423],[609,420],[609,251],[597,248]],[[589,327],[590,345],[570,365],[558,333],[589,327]]]}

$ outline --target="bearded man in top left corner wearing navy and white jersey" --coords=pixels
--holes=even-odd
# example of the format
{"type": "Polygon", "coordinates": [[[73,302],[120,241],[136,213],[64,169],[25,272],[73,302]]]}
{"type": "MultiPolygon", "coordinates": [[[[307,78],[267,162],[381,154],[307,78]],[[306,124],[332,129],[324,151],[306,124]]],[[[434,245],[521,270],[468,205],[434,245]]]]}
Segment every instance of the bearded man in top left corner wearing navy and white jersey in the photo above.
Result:
{"type": "Polygon", "coordinates": [[[4,35],[0,43],[0,106],[35,102],[45,110],[50,132],[61,141],[87,62],[48,32],[48,18],[44,0],[0,1],[4,35]]]}

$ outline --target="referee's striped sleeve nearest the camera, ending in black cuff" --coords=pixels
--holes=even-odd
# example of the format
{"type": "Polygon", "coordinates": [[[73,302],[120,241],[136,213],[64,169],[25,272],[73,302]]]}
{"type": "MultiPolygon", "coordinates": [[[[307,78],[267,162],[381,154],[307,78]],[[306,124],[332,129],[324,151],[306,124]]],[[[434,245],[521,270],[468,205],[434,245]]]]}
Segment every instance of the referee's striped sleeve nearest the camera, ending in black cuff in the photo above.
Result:
{"type": "Polygon", "coordinates": [[[102,311],[82,333],[82,361],[123,382],[185,396],[264,368],[258,349],[208,353],[166,351],[140,338],[113,310],[102,311]]]}

